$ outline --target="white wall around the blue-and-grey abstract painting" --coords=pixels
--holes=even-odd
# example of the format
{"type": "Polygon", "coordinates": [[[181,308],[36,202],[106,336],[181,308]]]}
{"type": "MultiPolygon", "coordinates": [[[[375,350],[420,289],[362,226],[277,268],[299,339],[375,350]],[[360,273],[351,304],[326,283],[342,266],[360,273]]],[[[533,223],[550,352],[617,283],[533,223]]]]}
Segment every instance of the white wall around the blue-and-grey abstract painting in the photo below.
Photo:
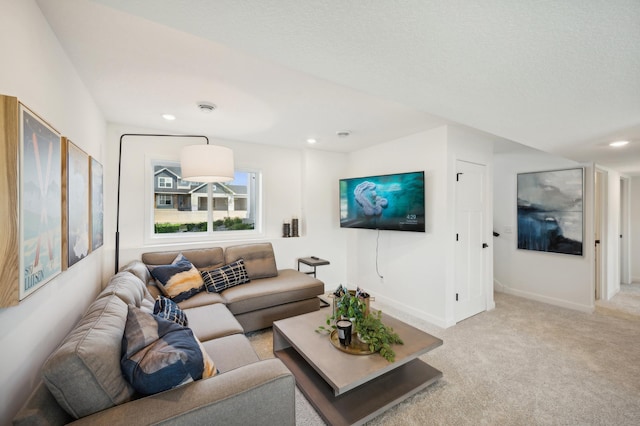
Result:
{"type": "Polygon", "coordinates": [[[581,167],[574,161],[533,149],[494,157],[494,280],[498,291],[568,308],[593,309],[592,174],[585,171],[584,256],[517,249],[518,173],[581,167]]]}

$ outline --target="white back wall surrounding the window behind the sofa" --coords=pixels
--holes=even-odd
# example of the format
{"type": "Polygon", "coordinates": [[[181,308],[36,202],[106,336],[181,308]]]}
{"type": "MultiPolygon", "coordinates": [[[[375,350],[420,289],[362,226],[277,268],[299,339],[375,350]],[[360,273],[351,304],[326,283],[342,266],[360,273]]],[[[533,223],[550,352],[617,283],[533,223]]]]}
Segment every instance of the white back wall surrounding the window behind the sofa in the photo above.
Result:
{"type": "MultiPolygon", "coordinates": [[[[111,206],[111,209],[105,212],[104,280],[115,270],[118,149],[121,135],[127,133],[162,132],[117,124],[108,126],[111,173],[105,180],[105,204],[111,206]]],[[[145,224],[151,223],[153,211],[151,161],[178,161],[182,146],[205,142],[204,139],[127,136],[122,143],[119,266],[139,259],[140,255],[147,251],[213,245],[226,247],[268,241],[273,244],[279,268],[296,268],[298,257],[315,255],[331,262],[331,265],[318,268],[318,278],[325,281],[327,286],[337,285],[343,280],[346,256],[344,244],[339,239],[340,235],[336,235],[337,189],[338,179],[344,174],[346,167],[346,155],[311,149],[286,149],[207,136],[210,143],[233,149],[237,168],[261,173],[262,232],[241,239],[238,239],[238,234],[219,235],[178,244],[166,239],[150,238],[150,232],[145,233],[145,224]],[[290,221],[293,216],[299,218],[301,236],[282,238],[282,223],[284,220],[290,221]]]]}

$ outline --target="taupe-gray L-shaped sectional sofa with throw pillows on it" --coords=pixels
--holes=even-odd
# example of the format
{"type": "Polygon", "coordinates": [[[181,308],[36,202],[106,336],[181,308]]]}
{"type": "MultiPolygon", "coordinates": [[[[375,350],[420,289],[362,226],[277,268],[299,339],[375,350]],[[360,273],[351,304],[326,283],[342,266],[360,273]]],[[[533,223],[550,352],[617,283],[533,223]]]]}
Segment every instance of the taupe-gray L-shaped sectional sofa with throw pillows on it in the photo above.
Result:
{"type": "Polygon", "coordinates": [[[152,309],[160,290],[147,265],[171,263],[177,254],[146,253],[111,278],[46,361],[43,381],[14,417],[15,425],[295,423],[293,375],[278,359],[261,361],[244,333],[318,309],[324,284],[295,270],[277,270],[268,243],[182,251],[200,270],[242,258],[251,279],[178,303],[216,375],[148,396],[125,380],[120,359],[128,311],[152,309]]]}

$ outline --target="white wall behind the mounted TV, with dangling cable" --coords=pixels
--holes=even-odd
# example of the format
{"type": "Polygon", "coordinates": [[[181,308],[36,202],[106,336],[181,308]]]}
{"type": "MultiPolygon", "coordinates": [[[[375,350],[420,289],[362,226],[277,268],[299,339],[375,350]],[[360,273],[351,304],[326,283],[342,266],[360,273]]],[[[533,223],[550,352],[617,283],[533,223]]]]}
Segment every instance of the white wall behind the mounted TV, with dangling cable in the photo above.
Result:
{"type": "Polygon", "coordinates": [[[425,172],[426,232],[343,229],[349,288],[363,287],[377,300],[445,326],[449,224],[447,128],[396,139],[350,154],[349,175],[425,172]],[[376,272],[376,245],[378,245],[376,272]]]}

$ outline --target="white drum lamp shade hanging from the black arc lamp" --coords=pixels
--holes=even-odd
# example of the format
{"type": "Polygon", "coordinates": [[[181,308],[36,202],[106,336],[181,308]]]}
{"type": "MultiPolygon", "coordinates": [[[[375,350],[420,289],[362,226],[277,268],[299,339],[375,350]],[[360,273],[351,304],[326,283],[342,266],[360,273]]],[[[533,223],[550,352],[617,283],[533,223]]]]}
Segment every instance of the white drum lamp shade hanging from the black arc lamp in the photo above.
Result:
{"type": "Polygon", "coordinates": [[[180,152],[182,179],[191,182],[233,180],[233,151],[218,145],[189,145],[180,152]]]}

